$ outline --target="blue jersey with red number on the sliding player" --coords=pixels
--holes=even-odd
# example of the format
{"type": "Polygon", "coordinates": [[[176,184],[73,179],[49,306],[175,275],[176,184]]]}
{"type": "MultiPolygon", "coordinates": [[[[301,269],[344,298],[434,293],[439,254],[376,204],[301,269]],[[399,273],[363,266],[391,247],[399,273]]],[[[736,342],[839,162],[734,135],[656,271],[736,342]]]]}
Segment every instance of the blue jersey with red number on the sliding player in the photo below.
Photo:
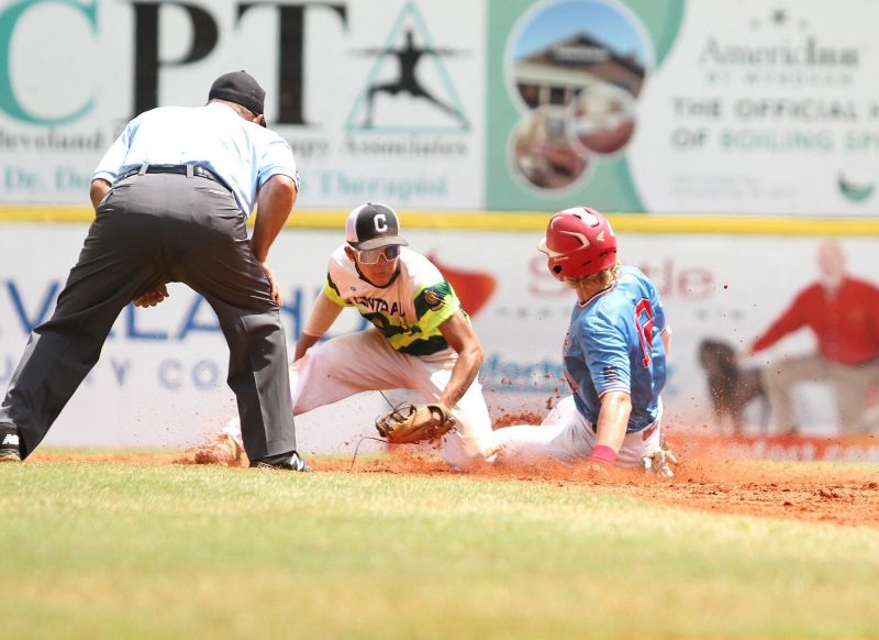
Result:
{"type": "Polygon", "coordinates": [[[632,396],[627,432],[657,420],[666,383],[665,330],[659,293],[633,266],[621,267],[620,280],[610,289],[578,302],[565,336],[565,377],[577,410],[592,424],[608,391],[632,396]]]}

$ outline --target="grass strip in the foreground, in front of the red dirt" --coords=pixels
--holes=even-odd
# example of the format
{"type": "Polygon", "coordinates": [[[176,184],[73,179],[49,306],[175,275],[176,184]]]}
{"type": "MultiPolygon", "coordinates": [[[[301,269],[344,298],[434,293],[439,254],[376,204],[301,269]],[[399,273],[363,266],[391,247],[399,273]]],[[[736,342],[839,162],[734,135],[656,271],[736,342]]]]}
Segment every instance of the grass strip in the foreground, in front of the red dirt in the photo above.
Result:
{"type": "Polygon", "coordinates": [[[879,633],[879,531],[588,486],[0,465],[0,638],[879,633]]]}

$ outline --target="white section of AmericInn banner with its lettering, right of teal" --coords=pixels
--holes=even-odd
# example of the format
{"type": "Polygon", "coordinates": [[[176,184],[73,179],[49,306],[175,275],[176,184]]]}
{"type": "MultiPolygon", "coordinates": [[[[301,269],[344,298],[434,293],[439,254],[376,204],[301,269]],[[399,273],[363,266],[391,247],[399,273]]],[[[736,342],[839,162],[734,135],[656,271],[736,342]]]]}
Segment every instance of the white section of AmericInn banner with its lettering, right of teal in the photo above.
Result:
{"type": "Polygon", "coordinates": [[[879,212],[879,4],[688,2],[630,153],[647,210],[879,212]]]}

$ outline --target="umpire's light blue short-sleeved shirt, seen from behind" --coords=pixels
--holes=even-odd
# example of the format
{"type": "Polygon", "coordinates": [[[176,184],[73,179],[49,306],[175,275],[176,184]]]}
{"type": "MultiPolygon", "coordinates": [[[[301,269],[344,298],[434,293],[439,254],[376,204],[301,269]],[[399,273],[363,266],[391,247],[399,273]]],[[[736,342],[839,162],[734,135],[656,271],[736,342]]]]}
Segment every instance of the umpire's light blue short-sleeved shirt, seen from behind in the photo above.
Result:
{"type": "Polygon", "coordinates": [[[271,176],[287,176],[299,190],[290,145],[280,135],[244,120],[229,106],[159,107],[141,113],[104,154],[92,179],[116,179],[144,163],[197,165],[232,189],[245,218],[271,176]]]}

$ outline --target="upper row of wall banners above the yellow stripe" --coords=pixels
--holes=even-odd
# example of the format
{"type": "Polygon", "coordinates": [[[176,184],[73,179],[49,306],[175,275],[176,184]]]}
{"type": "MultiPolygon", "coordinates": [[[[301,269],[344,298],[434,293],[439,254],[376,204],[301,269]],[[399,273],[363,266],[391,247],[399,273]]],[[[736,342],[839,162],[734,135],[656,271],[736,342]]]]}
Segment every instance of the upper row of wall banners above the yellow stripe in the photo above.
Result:
{"type": "Polygon", "coordinates": [[[0,203],[85,203],[127,120],[246,68],[307,207],[876,217],[877,22],[865,0],[0,0],[0,203]]]}

